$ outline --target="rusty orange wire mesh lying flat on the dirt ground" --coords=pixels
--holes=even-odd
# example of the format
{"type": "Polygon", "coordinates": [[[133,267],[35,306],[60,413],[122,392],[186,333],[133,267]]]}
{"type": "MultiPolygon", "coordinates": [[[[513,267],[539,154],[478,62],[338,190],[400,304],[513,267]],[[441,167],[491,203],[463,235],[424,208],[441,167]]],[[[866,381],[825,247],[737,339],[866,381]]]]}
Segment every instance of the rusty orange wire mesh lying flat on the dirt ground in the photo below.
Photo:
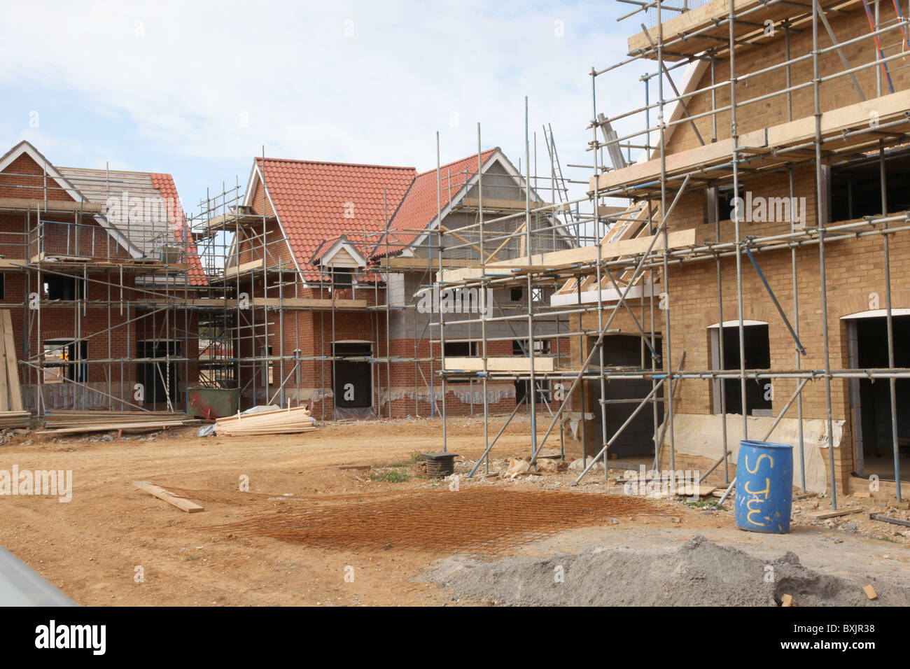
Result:
{"type": "Polygon", "coordinates": [[[496,554],[562,530],[656,510],[653,502],[628,496],[477,488],[325,508],[300,505],[210,529],[321,548],[496,554]]]}

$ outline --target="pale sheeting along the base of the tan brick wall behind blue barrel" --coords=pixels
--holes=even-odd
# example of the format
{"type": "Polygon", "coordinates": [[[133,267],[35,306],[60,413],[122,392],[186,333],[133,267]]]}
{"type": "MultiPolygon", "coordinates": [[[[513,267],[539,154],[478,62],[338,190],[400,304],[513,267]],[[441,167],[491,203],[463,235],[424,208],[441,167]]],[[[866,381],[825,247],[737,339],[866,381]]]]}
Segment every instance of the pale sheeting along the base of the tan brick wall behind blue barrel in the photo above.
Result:
{"type": "MultiPolygon", "coordinates": [[[[677,452],[686,455],[700,455],[711,461],[717,461],[723,454],[723,416],[720,414],[673,414],[673,446],[677,452]]],[[[771,429],[772,417],[749,416],[749,439],[763,439],[771,429]]],[[[739,455],[739,442],[743,439],[743,417],[738,414],[726,414],[727,450],[733,451],[731,461],[736,462],[739,455]]],[[[839,448],[844,434],[844,421],[834,421],[834,448],[839,448]]],[[[778,423],[771,436],[764,441],[788,443],[794,447],[794,485],[801,485],[799,421],[784,418],[778,423]]],[[[827,421],[803,421],[803,444],[805,454],[805,487],[811,492],[825,492],[828,474],[824,463],[828,447],[827,421]]],[[[663,437],[662,456],[669,457],[670,432],[663,437]]]]}

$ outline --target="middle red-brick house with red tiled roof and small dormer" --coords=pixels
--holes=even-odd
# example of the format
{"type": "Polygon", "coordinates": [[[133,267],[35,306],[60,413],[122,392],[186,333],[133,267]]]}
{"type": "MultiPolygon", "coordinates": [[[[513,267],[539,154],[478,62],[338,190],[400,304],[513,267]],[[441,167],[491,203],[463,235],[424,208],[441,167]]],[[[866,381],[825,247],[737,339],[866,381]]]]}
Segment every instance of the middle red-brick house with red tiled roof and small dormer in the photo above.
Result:
{"type": "MultiPolygon", "coordinates": [[[[485,198],[523,203],[524,179],[501,149],[483,151],[480,165],[485,198]]],[[[230,326],[243,403],[307,403],[320,419],[438,413],[438,328],[430,325],[434,315],[419,309],[420,298],[438,269],[434,230],[474,223],[480,178],[476,154],[440,167],[439,187],[436,169],[257,158],[243,206],[229,216],[236,238],[224,262],[228,292],[248,297],[248,309],[238,308],[230,326]]],[[[460,237],[466,243],[442,249],[443,261],[463,266],[479,258],[476,229],[460,237]]],[[[532,244],[570,246],[552,230],[535,232],[532,244]]],[[[512,240],[496,257],[523,250],[512,240]]],[[[517,309],[528,298],[520,293],[496,291],[497,309],[517,309]]],[[[540,327],[535,336],[555,326],[540,327]]],[[[491,333],[506,330],[490,326],[491,333]]],[[[476,323],[446,331],[457,338],[447,355],[480,355],[476,323]]],[[[490,342],[488,355],[515,350],[521,340],[503,336],[490,342]]],[[[511,411],[521,392],[520,383],[491,384],[491,411],[511,411]]],[[[475,381],[450,383],[446,394],[451,414],[482,411],[475,381]]]]}

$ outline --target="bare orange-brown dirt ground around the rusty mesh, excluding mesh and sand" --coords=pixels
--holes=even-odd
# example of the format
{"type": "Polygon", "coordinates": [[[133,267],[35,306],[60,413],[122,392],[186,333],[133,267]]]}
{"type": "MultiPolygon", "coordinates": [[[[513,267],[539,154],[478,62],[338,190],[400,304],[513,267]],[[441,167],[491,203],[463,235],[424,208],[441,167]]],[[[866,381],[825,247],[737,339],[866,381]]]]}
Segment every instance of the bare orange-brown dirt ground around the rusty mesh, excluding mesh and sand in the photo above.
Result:
{"type": "MultiPolygon", "coordinates": [[[[491,435],[503,420],[491,421],[491,435]]],[[[491,469],[503,469],[511,456],[527,455],[529,428],[526,419],[513,421],[496,444],[491,469]]],[[[423,578],[433,564],[451,557],[446,553],[394,546],[328,550],[268,536],[238,536],[215,527],[288,504],[358,503],[374,495],[449,486],[449,481],[421,477],[414,457],[440,451],[441,433],[441,421],[419,420],[327,424],[296,436],[199,439],[195,428],[122,439],[97,434],[45,439],[33,433],[19,435],[0,446],[0,470],[12,471],[14,466],[20,471],[71,470],[72,501],[0,496],[0,544],[86,605],[484,603],[482,598],[462,600],[423,578]],[[350,464],[372,468],[339,467],[350,464]],[[179,491],[205,511],[180,512],[137,490],[131,481],[151,481],[179,491]],[[240,491],[244,481],[248,492],[240,491]],[[350,502],[336,495],[349,495],[350,502]]],[[[482,434],[480,419],[450,419],[449,450],[473,461],[482,451],[482,434]]],[[[466,480],[463,474],[469,466],[458,465],[462,486],[622,494],[622,485],[605,483],[602,471],[592,472],[570,489],[573,472],[466,480]]],[[[824,506],[826,501],[819,502],[824,506]]],[[[799,553],[804,563],[821,568],[825,555],[836,546],[837,553],[851,555],[867,571],[885,575],[910,571],[907,538],[895,534],[905,528],[898,526],[862,532],[841,526],[848,517],[831,526],[796,522],[794,533],[782,540],[736,530],[729,512],[674,500],[656,503],[659,512],[622,522],[614,519],[583,532],[562,532],[512,552],[582,550],[591,543],[622,542],[632,530],[637,535],[659,532],[672,542],[707,533],[714,541],[756,552],[773,552],[779,542],[799,553]]],[[[798,503],[807,507],[814,502],[798,503]]],[[[883,512],[878,508],[881,501],[856,503],[883,512]]],[[[849,565],[841,561],[831,568],[844,570],[849,565]]]]}

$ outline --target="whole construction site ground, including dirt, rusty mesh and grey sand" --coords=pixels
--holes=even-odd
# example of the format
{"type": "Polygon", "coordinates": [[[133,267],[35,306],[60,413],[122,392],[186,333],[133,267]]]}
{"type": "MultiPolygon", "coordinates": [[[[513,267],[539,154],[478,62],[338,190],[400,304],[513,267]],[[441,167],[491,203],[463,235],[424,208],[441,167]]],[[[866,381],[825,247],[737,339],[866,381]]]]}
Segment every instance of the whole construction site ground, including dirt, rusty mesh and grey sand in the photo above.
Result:
{"type": "MultiPolygon", "coordinates": [[[[503,421],[504,417],[491,420],[490,436],[503,421]]],[[[541,424],[541,431],[544,427],[541,424]]],[[[528,457],[529,431],[527,417],[512,421],[492,452],[491,471],[504,474],[511,458],[528,457]]],[[[862,512],[819,521],[809,514],[830,507],[830,501],[801,499],[794,502],[792,532],[776,535],[738,530],[733,513],[713,509],[716,499],[710,496],[697,503],[678,498],[630,502],[623,495],[622,482],[614,481],[622,476],[620,471],[610,472],[613,482],[605,482],[602,471],[591,471],[577,487],[571,487],[577,471],[467,479],[465,474],[483,450],[482,421],[472,417],[448,421],[449,450],[460,454],[458,490],[453,491],[453,481],[426,478],[418,456],[440,451],[441,436],[438,419],[327,423],[307,434],[268,437],[198,438],[195,428],[121,437],[114,433],[65,437],[19,433],[0,446],[0,470],[12,471],[14,466],[19,471],[71,470],[72,501],[36,495],[0,497],[0,544],[76,603],[86,605],[607,603],[591,593],[581,600],[560,599],[561,595],[542,591],[522,596],[521,584],[517,593],[515,587],[503,588],[502,581],[496,583],[497,574],[521,581],[541,578],[542,573],[549,580],[554,566],[548,561],[554,554],[568,556],[562,562],[569,563],[583,558],[588,571],[592,560],[596,562],[598,555],[610,551],[647,553],[653,558],[649,564],[659,565],[681,547],[702,551],[705,544],[715,547],[715,553],[721,551],[705,560],[731,564],[747,558],[764,563],[777,560],[790,569],[785,565],[793,563],[793,556],[784,555],[792,552],[814,573],[849,583],[850,596],[842,593],[840,599],[828,602],[824,587],[815,588],[818,592],[804,594],[806,604],[853,603],[854,584],[854,603],[868,603],[859,588],[865,584],[874,584],[880,594],[875,604],[907,603],[910,532],[906,527],[869,519],[870,512],[908,517],[904,509],[886,500],[844,497],[841,508],[862,512]],[[136,489],[132,481],[151,481],[201,504],[205,511],[181,512],[136,489]],[[248,491],[241,490],[245,483],[248,491]],[[435,546],[430,542],[415,548],[404,545],[407,542],[400,537],[381,542],[381,523],[368,537],[372,544],[348,542],[344,527],[332,531],[331,519],[339,513],[370,508],[379,518],[384,509],[398,504],[396,512],[400,512],[413,500],[410,522],[414,523],[414,542],[420,543],[420,537],[427,534],[424,526],[440,521],[428,517],[431,512],[426,510],[434,508],[433,500],[443,500],[443,492],[473,494],[474,498],[459,499],[476,499],[490,508],[480,509],[482,522],[472,517],[441,519],[449,523],[448,538],[435,546]],[[526,502],[538,499],[529,495],[543,493],[555,496],[526,502]],[[447,548],[460,541],[461,529],[472,536],[475,521],[496,533],[495,523],[506,514],[493,508],[496,502],[490,502],[491,494],[501,496],[497,499],[514,496],[521,502],[520,508],[522,504],[528,508],[550,500],[572,502],[576,498],[568,495],[585,493],[614,496],[608,502],[617,511],[596,522],[585,522],[583,516],[589,509],[581,508],[578,514],[572,513],[573,526],[545,530],[530,542],[493,542],[489,544],[493,550],[481,551],[477,557],[447,548]],[[330,512],[328,516],[326,512],[330,512]],[[257,519],[272,517],[280,522],[263,531],[257,519]],[[328,519],[328,530],[321,531],[319,545],[298,540],[298,528],[307,529],[308,517],[328,519]],[[455,536],[452,528],[457,531],[455,536]],[[723,551],[739,557],[727,560],[723,551]],[[486,570],[480,581],[467,583],[458,576],[466,564],[486,570]],[[519,571],[512,568],[516,564],[523,565],[519,571]]],[[[553,445],[558,444],[556,440],[553,445]]],[[[479,471],[485,468],[481,465],[479,471]]],[[[585,506],[591,507],[591,503],[581,504],[585,506]]],[[[726,503],[728,510],[731,506],[726,503]]],[[[545,524],[549,521],[543,511],[541,522],[545,524]]],[[[529,522],[538,522],[529,513],[529,522]]],[[[501,532],[504,540],[509,532],[501,532]]],[[[636,564],[640,561],[626,566],[634,572],[636,564]]],[[[648,569],[640,574],[625,573],[617,583],[633,591],[644,588],[648,573],[648,569]]],[[[605,584],[611,582],[607,574],[609,571],[598,576],[603,576],[601,581],[583,587],[610,588],[605,584]]],[[[723,579],[705,585],[705,595],[698,590],[704,578],[710,580],[712,575],[689,579],[695,583],[694,589],[689,588],[675,602],[669,587],[663,588],[664,600],[655,599],[664,593],[653,593],[609,602],[716,603],[712,597],[725,587],[723,579]]],[[[766,603],[776,603],[780,594],[779,587],[768,591],[766,603]]],[[[762,603],[741,602],[735,597],[726,601],[725,595],[717,596],[726,603],[762,603]]],[[[794,596],[800,603],[800,595],[794,596]]]]}

